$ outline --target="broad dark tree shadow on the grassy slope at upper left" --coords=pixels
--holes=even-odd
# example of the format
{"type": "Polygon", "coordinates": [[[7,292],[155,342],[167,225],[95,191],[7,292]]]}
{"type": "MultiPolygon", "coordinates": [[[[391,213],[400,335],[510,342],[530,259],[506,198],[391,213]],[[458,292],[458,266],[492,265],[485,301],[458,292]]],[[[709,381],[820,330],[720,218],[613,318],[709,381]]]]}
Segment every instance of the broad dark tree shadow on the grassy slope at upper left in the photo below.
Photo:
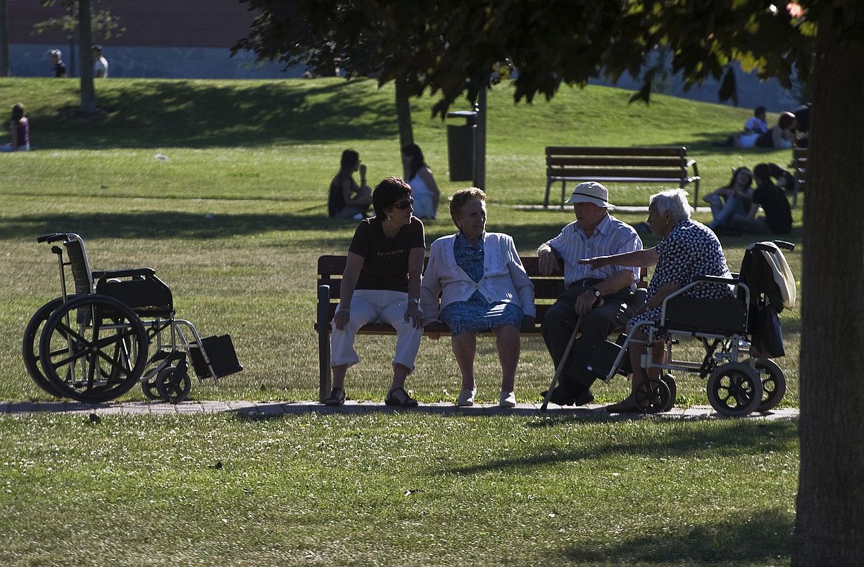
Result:
{"type": "Polygon", "coordinates": [[[42,117],[40,148],[260,147],[397,135],[391,99],[359,81],[235,87],[140,81],[98,93],[101,112],[42,117]]]}

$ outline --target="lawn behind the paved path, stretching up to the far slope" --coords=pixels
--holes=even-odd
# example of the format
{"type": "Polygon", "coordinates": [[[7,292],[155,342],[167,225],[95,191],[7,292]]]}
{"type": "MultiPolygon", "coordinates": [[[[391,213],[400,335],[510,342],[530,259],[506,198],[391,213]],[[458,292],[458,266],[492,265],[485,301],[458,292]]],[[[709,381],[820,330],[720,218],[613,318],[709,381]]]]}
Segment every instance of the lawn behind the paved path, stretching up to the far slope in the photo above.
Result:
{"type": "MultiPolygon", "coordinates": [[[[317,393],[314,266],[323,253],[344,254],[355,223],[328,219],[329,180],[343,148],[359,150],[370,179],[400,173],[391,87],[342,79],[175,81],[118,79],[98,85],[105,109],[76,117],[74,80],[8,79],[0,99],[29,108],[36,151],[3,156],[0,191],[0,400],[48,399],[26,375],[24,325],[59,292],[54,256],[35,236],[84,236],[94,269],[149,266],[172,287],[178,315],[205,334],[229,332],[245,371],[219,385],[195,385],[198,399],[296,400],[317,393]],[[156,153],[168,161],[154,159],[156,153]]],[[[699,162],[703,194],[730,169],[757,161],[785,164],[788,151],[715,148],[740,128],[746,109],[658,96],[651,106],[626,104],[626,91],[565,87],[552,102],[514,105],[511,91],[490,94],[487,192],[490,230],[511,234],[533,254],[572,218],[568,211],[518,211],[542,202],[543,146],[683,144],[699,162]]],[[[465,186],[447,176],[445,123],[431,118],[429,98],[415,101],[415,135],[442,191],[465,186]]],[[[619,205],[645,205],[658,186],[612,187],[619,205]]],[[[800,244],[800,209],[791,240],[800,244]]],[[[644,214],[621,213],[630,223],[644,214]]],[[[697,218],[707,221],[707,213],[697,218]]],[[[442,211],[427,224],[427,243],[452,233],[442,211]]],[[[645,244],[656,242],[645,237],[645,244]]],[[[736,270],[750,239],[724,238],[736,270]]],[[[800,274],[800,247],[787,255],[800,274]]],[[[797,309],[784,312],[789,381],[785,404],[797,405],[797,309]]],[[[377,399],[386,385],[392,337],[361,337],[363,363],[348,394],[377,399]]],[[[497,395],[492,341],[481,341],[480,397],[497,395]]],[[[553,372],[539,339],[524,341],[518,395],[535,398],[553,372]]],[[[706,403],[703,383],[682,376],[679,405],[706,403]]],[[[447,340],[424,340],[410,387],[421,400],[455,397],[459,379],[447,340]]],[[[612,401],[626,381],[597,387],[612,401]]],[[[140,390],[127,398],[141,399],[140,390]]]]}

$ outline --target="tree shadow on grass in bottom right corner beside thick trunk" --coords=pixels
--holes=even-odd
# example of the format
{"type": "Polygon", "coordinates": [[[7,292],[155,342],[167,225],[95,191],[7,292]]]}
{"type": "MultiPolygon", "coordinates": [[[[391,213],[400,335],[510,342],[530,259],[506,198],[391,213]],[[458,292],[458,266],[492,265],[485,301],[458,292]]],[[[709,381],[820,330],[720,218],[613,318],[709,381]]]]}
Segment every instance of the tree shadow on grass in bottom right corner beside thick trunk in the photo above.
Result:
{"type": "Polygon", "coordinates": [[[791,556],[794,525],[795,516],[778,508],[729,513],[714,523],[667,526],[616,545],[573,546],[562,555],[575,564],[779,564],[791,556]]]}

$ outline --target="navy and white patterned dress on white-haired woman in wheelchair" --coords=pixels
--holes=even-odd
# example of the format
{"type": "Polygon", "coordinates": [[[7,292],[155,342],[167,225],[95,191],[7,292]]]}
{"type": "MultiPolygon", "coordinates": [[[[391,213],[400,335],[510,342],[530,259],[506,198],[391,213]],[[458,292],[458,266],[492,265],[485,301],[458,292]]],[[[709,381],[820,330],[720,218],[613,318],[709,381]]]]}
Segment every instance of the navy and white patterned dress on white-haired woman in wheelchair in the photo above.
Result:
{"type": "MultiPolygon", "coordinates": [[[[654,248],[658,253],[657,267],[648,284],[648,299],[672,283],[689,284],[701,275],[732,277],[720,241],[704,224],[685,218],[677,222],[671,232],[654,248]]],[[[685,297],[702,299],[734,298],[735,288],[727,284],[706,283],[684,292],[685,297]]],[[[663,306],[649,309],[630,320],[658,320],[663,306]]]]}

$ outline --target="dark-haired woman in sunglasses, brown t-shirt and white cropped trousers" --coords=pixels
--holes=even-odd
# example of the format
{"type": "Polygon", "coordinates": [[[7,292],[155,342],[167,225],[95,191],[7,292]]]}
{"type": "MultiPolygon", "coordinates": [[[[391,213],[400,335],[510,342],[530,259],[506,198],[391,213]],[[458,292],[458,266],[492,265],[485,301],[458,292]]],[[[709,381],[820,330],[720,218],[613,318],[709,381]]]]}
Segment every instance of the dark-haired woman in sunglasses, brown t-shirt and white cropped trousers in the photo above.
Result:
{"type": "Polygon", "coordinates": [[[346,371],[360,360],[354,336],[363,325],[377,322],[392,325],[397,334],[393,381],[384,403],[417,405],[404,388],[423,334],[418,302],[426,241],[422,221],[411,214],[413,202],[411,187],[388,177],[372,193],[375,216],[362,220],[354,231],[331,323],[333,391],[324,400],[327,406],[345,403],[346,371]]]}

